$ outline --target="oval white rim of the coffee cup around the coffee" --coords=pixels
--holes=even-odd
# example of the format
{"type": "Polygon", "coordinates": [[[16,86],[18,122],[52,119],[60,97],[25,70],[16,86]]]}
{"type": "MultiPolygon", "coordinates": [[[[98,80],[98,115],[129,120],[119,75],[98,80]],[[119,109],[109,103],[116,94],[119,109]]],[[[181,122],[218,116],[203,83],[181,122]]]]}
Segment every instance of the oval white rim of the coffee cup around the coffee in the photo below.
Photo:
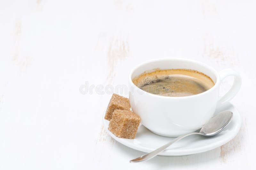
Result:
{"type": "MultiPolygon", "coordinates": [[[[170,68],[170,69],[171,69],[171,68],[170,68]]],[[[145,71],[147,71],[147,70],[145,70],[145,71]]],[[[182,99],[187,99],[187,98],[193,98],[193,97],[203,96],[203,95],[205,95],[205,94],[207,94],[207,93],[210,93],[210,92],[213,91],[214,89],[216,89],[216,88],[219,86],[219,84],[220,84],[220,76],[219,76],[218,72],[217,72],[213,67],[211,67],[211,66],[209,66],[209,65],[207,65],[207,64],[204,64],[203,62],[200,62],[200,61],[190,60],[190,59],[180,59],[180,58],[160,58],[160,59],[148,60],[148,61],[145,61],[145,62],[143,62],[143,63],[141,63],[141,64],[135,66],[135,67],[130,71],[130,74],[129,74],[129,82],[131,83],[131,85],[135,86],[136,89],[139,90],[140,92],[143,92],[143,93],[145,93],[145,94],[147,94],[147,95],[149,95],[149,96],[152,96],[152,97],[160,97],[160,98],[166,98],[166,99],[167,99],[167,98],[170,98],[170,99],[171,99],[171,98],[172,98],[172,99],[181,99],[181,98],[182,98],[182,99]],[[199,93],[199,94],[191,95],[191,96],[177,96],[177,97],[174,97],[174,96],[160,96],[160,95],[156,95],[156,94],[152,94],[152,93],[146,92],[146,91],[144,91],[144,90],[138,88],[138,87],[132,82],[132,74],[133,74],[133,72],[134,72],[137,68],[139,68],[139,67],[141,67],[141,66],[143,66],[143,65],[145,65],[145,64],[148,64],[148,63],[152,63],[152,62],[156,62],[156,61],[163,61],[163,60],[188,61],[188,62],[191,62],[191,63],[196,63],[196,64],[202,65],[202,66],[204,66],[204,67],[207,67],[210,71],[212,71],[212,73],[215,74],[215,76],[216,76],[216,83],[214,84],[214,86],[213,86],[211,89],[206,90],[206,91],[204,91],[203,93],[199,93]]]]}

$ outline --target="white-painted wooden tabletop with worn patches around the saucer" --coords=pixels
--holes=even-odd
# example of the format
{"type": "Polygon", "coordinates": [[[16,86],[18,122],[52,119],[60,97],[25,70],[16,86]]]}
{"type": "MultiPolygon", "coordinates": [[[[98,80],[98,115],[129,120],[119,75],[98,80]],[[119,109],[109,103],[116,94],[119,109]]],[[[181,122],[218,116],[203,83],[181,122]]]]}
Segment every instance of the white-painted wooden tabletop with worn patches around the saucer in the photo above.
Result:
{"type": "MultiPolygon", "coordinates": [[[[1,0],[0,169],[255,168],[255,7],[255,1],[1,0]],[[102,114],[111,87],[127,85],[132,67],[164,57],[239,72],[243,84],[232,103],[242,127],[214,150],[131,164],[143,152],[111,138],[102,114]],[[91,91],[81,92],[84,86],[91,91]]],[[[227,79],[222,93],[231,84],[227,79]]]]}

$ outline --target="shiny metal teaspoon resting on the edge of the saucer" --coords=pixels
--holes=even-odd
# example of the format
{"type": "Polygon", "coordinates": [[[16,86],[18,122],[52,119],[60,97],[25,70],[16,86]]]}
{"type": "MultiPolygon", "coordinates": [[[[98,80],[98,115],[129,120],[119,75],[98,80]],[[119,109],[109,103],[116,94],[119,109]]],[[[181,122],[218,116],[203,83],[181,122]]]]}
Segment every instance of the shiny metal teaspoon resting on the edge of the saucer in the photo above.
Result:
{"type": "Polygon", "coordinates": [[[172,145],[174,142],[179,141],[182,138],[185,138],[189,135],[204,135],[204,136],[213,136],[218,133],[220,133],[231,121],[233,117],[233,113],[231,111],[222,111],[218,113],[217,115],[213,116],[201,129],[199,129],[199,132],[192,132],[188,133],[186,135],[182,135],[171,142],[165,144],[164,146],[161,146],[160,148],[156,149],[155,151],[149,152],[145,155],[142,155],[136,159],[130,160],[130,162],[140,162],[144,160],[151,159],[155,157],[158,153],[162,152],[164,149],[166,149],[168,146],[172,145]]]}

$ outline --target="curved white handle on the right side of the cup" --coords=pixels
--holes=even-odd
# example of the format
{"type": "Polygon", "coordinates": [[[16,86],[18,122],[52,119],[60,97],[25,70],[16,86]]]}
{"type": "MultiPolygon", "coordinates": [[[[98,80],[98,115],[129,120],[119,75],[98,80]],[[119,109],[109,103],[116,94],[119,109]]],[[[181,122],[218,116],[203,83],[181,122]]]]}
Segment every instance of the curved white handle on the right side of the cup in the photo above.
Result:
{"type": "Polygon", "coordinates": [[[236,94],[239,91],[239,89],[241,87],[241,84],[242,84],[242,79],[241,79],[240,74],[238,74],[236,71],[234,71],[230,68],[221,70],[219,72],[219,75],[220,75],[220,81],[222,81],[224,78],[226,78],[228,76],[234,76],[234,82],[233,82],[233,85],[232,85],[231,89],[229,89],[228,92],[225,95],[220,97],[217,106],[220,106],[220,105],[223,105],[223,104],[227,103],[234,96],[236,96],[236,94]]]}

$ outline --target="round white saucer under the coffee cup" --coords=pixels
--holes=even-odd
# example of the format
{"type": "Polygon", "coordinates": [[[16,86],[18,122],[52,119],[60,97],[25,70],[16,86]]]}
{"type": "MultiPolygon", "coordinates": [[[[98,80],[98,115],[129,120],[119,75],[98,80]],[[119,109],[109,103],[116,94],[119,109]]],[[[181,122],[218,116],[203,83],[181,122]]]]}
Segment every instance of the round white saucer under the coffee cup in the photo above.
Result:
{"type": "MultiPolygon", "coordinates": [[[[228,103],[224,107],[218,108],[215,113],[219,113],[220,111],[224,110],[230,110],[234,115],[230,124],[221,133],[213,137],[204,137],[201,135],[188,136],[169,146],[166,150],[159,153],[158,155],[190,155],[206,152],[227,143],[238,133],[241,126],[241,119],[238,110],[231,103],[228,103]]],[[[109,121],[104,119],[104,115],[105,112],[103,114],[103,125],[108,134],[116,141],[132,149],[136,149],[142,152],[151,152],[174,139],[172,137],[156,135],[145,128],[143,125],[140,125],[135,139],[118,138],[108,130],[109,121]]]]}

